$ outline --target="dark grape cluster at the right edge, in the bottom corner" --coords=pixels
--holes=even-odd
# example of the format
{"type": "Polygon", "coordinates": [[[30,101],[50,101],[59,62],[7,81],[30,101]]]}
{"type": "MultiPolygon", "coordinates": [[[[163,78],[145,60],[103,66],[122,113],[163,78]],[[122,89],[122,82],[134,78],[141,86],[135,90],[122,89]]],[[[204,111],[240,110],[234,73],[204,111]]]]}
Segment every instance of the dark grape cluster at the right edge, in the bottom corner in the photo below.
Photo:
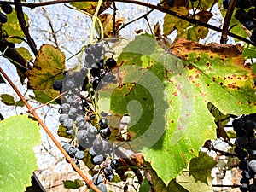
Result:
{"type": "Polygon", "coordinates": [[[235,153],[240,161],[239,168],[242,170],[241,191],[256,191],[256,113],[243,115],[234,119],[233,129],[236,131],[235,153]],[[252,182],[250,182],[252,181],[252,182]]]}

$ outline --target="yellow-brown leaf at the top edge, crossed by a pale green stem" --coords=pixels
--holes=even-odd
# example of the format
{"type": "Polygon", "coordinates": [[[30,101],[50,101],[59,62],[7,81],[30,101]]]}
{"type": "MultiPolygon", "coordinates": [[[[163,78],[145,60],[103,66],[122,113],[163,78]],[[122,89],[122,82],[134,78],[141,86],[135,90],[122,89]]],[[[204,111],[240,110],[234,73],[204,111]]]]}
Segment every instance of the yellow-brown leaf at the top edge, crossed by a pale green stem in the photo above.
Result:
{"type": "MultiPolygon", "coordinates": [[[[90,15],[93,15],[98,3],[97,2],[73,2],[70,4],[77,9],[83,10],[89,13],[90,15]]],[[[110,5],[111,5],[111,2],[102,3],[102,6],[99,10],[98,15],[100,15],[104,10],[108,9],[110,5]]]]}

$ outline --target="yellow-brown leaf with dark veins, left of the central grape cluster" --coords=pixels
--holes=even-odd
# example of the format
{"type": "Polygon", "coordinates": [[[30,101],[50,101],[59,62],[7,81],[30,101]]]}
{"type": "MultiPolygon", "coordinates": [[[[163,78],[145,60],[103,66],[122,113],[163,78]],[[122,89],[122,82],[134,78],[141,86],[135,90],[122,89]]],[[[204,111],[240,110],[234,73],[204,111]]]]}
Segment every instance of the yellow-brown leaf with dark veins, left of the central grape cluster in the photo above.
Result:
{"type": "Polygon", "coordinates": [[[49,102],[49,100],[60,95],[58,91],[53,90],[52,84],[55,80],[64,78],[64,62],[64,53],[53,45],[44,44],[39,49],[32,69],[26,72],[28,87],[41,91],[35,91],[36,96],[39,98],[38,102],[49,102]],[[39,96],[41,94],[42,96],[39,96]]]}

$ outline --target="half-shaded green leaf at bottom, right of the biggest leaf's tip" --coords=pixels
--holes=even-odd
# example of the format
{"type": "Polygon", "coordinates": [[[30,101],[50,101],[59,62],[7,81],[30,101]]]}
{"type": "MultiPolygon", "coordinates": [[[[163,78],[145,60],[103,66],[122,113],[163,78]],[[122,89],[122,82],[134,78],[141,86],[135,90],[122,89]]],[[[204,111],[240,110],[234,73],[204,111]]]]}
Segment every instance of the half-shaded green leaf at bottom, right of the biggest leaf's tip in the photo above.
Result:
{"type": "Polygon", "coordinates": [[[189,163],[189,170],[183,170],[176,178],[177,183],[189,192],[212,191],[212,168],[216,161],[206,153],[200,152],[199,157],[189,163]]]}

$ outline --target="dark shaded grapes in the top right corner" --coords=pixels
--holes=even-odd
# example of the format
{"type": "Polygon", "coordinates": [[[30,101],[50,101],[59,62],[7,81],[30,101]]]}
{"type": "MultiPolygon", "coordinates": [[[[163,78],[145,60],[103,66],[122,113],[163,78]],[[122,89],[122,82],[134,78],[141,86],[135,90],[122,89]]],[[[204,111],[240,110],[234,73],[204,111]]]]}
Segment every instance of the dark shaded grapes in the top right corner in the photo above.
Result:
{"type": "MultiPolygon", "coordinates": [[[[224,0],[224,9],[228,9],[230,0],[224,0]]],[[[253,43],[256,43],[256,1],[255,0],[237,0],[235,18],[248,30],[252,30],[250,37],[253,43]],[[245,10],[249,9],[249,10],[245,10]]]]}

